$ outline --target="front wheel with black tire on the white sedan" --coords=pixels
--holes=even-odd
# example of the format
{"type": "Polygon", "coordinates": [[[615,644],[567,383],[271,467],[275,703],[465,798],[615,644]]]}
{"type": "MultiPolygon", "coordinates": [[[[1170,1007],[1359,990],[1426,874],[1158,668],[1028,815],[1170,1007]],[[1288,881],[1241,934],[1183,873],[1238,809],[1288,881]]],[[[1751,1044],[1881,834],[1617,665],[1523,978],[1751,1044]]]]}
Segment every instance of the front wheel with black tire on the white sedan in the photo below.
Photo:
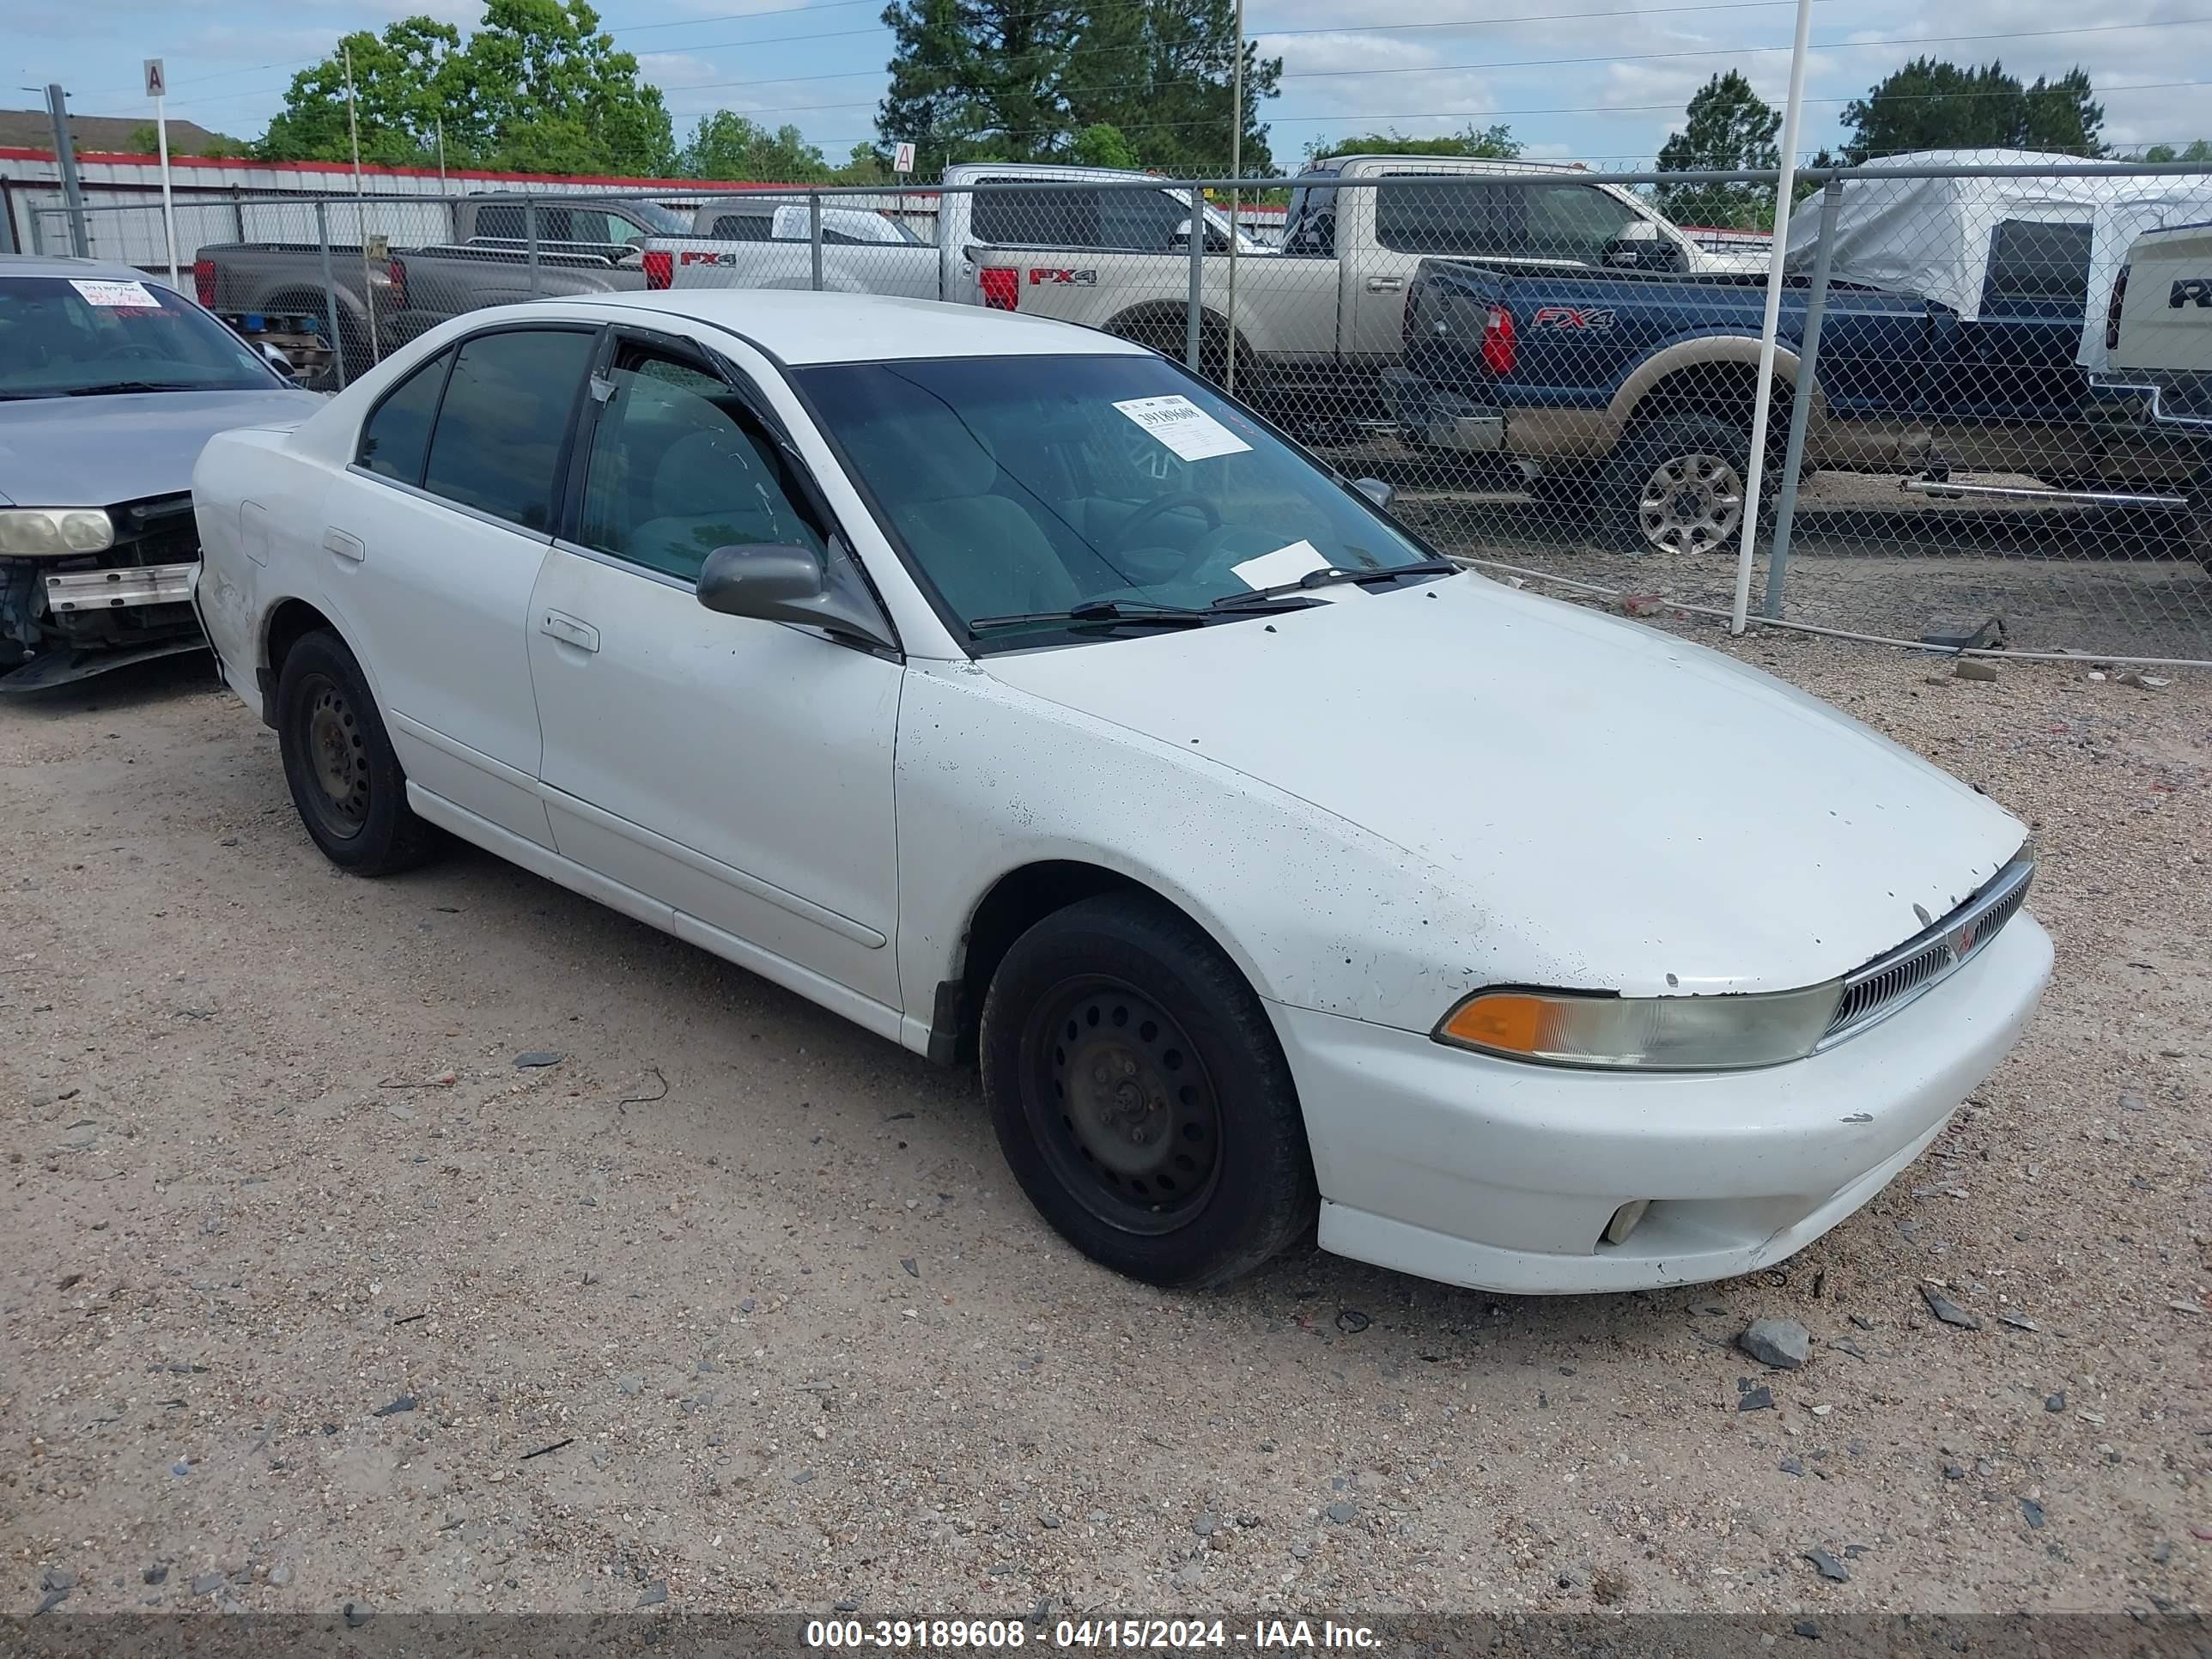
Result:
{"type": "Polygon", "coordinates": [[[1168,905],[1086,898],[1022,933],[984,998],[980,1048],[1013,1179],[1093,1261],[1217,1285],[1314,1225],[1314,1159],[1274,1026],[1168,905]]]}

